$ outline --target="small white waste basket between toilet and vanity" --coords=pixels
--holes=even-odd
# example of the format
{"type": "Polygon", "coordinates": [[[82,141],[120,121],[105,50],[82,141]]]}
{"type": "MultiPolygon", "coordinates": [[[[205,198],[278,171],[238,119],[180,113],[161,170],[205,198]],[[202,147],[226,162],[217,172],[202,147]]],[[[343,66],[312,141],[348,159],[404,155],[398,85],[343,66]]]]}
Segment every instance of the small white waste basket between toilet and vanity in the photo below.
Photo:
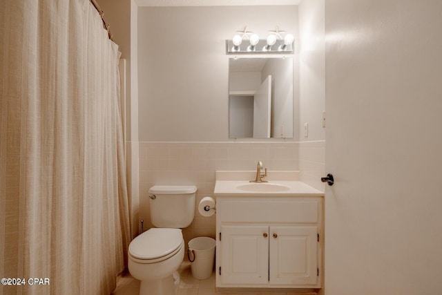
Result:
{"type": "Polygon", "coordinates": [[[197,278],[198,280],[210,278],[215,261],[215,240],[202,236],[193,238],[189,241],[188,245],[187,257],[191,262],[193,278],[197,278]]]}

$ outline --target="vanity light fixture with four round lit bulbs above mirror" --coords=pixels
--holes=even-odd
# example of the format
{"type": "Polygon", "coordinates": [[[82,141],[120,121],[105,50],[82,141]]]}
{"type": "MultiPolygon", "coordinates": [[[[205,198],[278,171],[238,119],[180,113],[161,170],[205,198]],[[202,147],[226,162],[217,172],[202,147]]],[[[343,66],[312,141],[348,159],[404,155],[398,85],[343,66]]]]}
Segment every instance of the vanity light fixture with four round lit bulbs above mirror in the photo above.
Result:
{"type": "Polygon", "coordinates": [[[260,39],[258,34],[245,27],[244,30],[237,31],[231,40],[226,40],[226,44],[227,54],[294,53],[294,35],[286,34],[278,27],[269,31],[267,39],[260,39]],[[249,42],[243,42],[243,39],[248,39],[249,42]]]}

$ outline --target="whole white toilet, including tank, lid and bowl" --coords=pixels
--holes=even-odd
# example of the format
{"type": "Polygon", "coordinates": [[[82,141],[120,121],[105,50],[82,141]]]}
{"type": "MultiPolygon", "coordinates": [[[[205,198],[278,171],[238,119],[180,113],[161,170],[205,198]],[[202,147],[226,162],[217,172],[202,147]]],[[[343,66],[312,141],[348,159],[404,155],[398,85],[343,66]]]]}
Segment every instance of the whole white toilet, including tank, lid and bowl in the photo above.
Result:
{"type": "Polygon", "coordinates": [[[155,185],[149,189],[151,222],[132,240],[128,268],[141,280],[140,295],[175,295],[180,284],[177,269],[184,258],[181,229],[195,215],[195,186],[155,185]]]}

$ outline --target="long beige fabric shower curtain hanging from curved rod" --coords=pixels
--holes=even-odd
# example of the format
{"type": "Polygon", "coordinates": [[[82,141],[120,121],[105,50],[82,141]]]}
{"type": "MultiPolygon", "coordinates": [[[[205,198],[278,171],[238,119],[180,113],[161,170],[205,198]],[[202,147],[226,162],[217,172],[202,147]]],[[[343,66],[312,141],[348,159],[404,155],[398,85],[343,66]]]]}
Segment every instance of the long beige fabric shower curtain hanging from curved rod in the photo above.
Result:
{"type": "Polygon", "coordinates": [[[130,240],[118,48],[89,0],[1,0],[0,42],[0,294],[110,294],[130,240]]]}

